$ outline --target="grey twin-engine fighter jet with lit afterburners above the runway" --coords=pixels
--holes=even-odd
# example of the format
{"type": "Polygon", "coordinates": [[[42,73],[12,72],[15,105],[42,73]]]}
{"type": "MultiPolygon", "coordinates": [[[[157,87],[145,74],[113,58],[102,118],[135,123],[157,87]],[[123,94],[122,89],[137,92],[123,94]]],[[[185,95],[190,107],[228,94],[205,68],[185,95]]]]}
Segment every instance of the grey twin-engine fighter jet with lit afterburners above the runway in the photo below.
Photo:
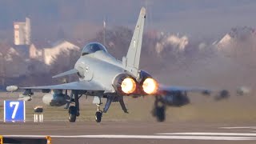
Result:
{"type": "Polygon", "coordinates": [[[18,87],[9,86],[7,90],[25,90],[23,96],[31,97],[32,90],[42,90],[49,93],[54,90],[54,94],[46,94],[46,103],[54,106],[66,104],[69,109],[69,121],[75,122],[79,116],[79,98],[82,95],[94,97],[93,103],[97,105],[95,121],[102,121],[102,113],[109,110],[111,102],[119,102],[122,110],[128,113],[123,97],[138,98],[141,96],[154,95],[154,116],[158,121],[164,120],[166,106],[183,106],[189,102],[187,92],[210,93],[204,88],[190,88],[180,86],[163,86],[145,70],[139,69],[139,62],[142,50],[142,35],[146,9],[142,7],[138,16],[138,22],[134,29],[133,37],[126,56],[122,61],[110,55],[106,47],[98,42],[90,42],[83,49],[81,57],[74,65],[73,70],[68,70],[62,74],[55,75],[53,78],[60,78],[70,74],[77,74],[78,82],[68,82],[53,86],[18,87]],[[62,91],[65,90],[65,94],[62,91]],[[70,96],[67,94],[70,90],[70,96]],[[67,97],[67,98],[65,98],[67,97]],[[102,98],[106,98],[103,110],[102,98]],[[64,102],[64,103],[61,103],[64,102]],[[70,104],[74,103],[74,106],[70,104]]]}

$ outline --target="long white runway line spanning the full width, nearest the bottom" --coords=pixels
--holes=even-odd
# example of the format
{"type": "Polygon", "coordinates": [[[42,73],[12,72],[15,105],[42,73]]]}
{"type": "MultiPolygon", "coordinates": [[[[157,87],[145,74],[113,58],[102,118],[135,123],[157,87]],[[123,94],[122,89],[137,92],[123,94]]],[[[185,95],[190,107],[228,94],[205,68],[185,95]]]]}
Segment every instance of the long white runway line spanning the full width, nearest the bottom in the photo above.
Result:
{"type": "MultiPolygon", "coordinates": [[[[46,135],[3,135],[3,137],[45,138],[46,135]]],[[[132,139],[180,139],[180,140],[222,140],[246,141],[256,140],[256,137],[227,137],[227,136],[193,136],[193,135],[50,135],[51,138],[132,138],[132,139]]]]}

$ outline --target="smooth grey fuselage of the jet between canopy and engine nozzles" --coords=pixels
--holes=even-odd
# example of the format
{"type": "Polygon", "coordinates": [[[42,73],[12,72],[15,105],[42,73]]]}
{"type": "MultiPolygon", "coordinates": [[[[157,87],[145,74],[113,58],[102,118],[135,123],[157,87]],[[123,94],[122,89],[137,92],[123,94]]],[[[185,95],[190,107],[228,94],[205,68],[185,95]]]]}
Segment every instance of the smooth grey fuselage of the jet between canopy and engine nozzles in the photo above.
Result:
{"type": "Polygon", "coordinates": [[[106,88],[105,93],[115,92],[113,81],[118,74],[129,74],[136,78],[122,66],[121,61],[102,50],[81,56],[74,69],[79,71],[80,80],[93,81],[104,86],[106,88]]]}

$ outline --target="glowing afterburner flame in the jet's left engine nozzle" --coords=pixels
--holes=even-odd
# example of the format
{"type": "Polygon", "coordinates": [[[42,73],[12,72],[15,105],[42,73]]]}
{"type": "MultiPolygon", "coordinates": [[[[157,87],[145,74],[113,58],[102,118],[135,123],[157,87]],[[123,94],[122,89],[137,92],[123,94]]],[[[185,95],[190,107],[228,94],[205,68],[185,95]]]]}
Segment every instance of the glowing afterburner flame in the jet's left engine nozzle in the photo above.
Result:
{"type": "Polygon", "coordinates": [[[121,84],[122,92],[131,94],[136,90],[136,82],[133,78],[125,78],[121,84]]]}

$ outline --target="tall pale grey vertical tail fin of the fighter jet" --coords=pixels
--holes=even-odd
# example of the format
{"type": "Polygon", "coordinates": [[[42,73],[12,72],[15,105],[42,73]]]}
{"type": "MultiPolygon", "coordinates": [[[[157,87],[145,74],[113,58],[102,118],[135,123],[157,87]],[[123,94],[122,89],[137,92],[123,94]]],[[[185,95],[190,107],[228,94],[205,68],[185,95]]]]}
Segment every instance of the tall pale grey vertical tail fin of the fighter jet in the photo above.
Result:
{"type": "Polygon", "coordinates": [[[137,24],[134,29],[133,38],[130,41],[129,50],[127,52],[126,58],[123,59],[123,63],[126,66],[126,69],[135,76],[138,75],[138,66],[142,50],[142,34],[145,18],[146,9],[145,7],[142,7],[141,12],[138,16],[137,24]]]}

